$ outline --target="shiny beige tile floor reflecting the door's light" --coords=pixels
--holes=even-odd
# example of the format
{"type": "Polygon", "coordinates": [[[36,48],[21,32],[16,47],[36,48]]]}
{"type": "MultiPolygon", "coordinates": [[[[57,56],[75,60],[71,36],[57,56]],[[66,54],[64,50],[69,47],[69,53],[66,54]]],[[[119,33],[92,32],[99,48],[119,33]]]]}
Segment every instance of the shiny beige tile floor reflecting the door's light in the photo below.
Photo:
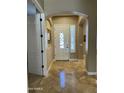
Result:
{"type": "Polygon", "coordinates": [[[85,62],[55,61],[48,77],[28,74],[29,93],[96,93],[96,76],[88,76],[85,62]]]}

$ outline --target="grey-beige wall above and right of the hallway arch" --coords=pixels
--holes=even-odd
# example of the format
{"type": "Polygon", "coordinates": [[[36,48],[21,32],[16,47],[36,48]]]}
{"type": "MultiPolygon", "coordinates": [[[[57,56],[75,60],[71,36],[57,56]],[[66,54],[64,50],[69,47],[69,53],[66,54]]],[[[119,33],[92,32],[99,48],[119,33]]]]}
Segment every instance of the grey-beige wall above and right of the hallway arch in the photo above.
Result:
{"type": "Polygon", "coordinates": [[[97,0],[45,0],[46,15],[61,11],[78,11],[88,15],[89,20],[89,51],[87,69],[96,71],[96,32],[97,32],[97,0]]]}

